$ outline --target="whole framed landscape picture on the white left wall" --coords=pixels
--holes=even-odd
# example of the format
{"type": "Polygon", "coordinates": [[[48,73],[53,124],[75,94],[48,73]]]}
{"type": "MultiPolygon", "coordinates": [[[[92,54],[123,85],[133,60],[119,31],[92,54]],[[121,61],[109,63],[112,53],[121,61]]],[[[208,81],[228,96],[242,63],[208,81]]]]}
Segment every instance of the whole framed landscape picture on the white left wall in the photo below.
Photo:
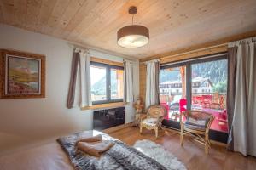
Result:
{"type": "Polygon", "coordinates": [[[0,49],[0,99],[44,98],[45,56],[0,49]]]}

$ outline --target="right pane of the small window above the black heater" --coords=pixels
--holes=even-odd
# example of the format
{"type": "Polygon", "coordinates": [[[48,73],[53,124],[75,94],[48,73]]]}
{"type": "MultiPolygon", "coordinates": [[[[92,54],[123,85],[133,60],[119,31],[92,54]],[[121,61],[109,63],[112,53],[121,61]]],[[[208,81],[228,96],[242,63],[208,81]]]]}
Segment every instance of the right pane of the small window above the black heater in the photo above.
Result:
{"type": "Polygon", "coordinates": [[[124,98],[124,71],[119,69],[110,70],[111,99],[124,98]]]}

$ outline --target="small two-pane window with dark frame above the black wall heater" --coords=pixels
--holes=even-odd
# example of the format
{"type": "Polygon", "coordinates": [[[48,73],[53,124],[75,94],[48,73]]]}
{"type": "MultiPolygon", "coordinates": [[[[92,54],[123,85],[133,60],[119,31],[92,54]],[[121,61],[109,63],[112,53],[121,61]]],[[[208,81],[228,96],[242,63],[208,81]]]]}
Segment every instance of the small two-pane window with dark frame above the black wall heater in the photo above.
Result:
{"type": "Polygon", "coordinates": [[[92,104],[123,101],[123,67],[91,62],[90,83],[92,104]]]}

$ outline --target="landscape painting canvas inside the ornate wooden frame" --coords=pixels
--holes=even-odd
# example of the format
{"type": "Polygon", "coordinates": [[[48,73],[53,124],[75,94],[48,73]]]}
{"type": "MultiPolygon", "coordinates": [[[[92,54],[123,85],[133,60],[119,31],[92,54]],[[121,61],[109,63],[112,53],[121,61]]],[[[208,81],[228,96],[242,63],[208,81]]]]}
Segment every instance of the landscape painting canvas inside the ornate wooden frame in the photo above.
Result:
{"type": "Polygon", "coordinates": [[[40,94],[40,59],[6,55],[7,94],[40,94]]]}

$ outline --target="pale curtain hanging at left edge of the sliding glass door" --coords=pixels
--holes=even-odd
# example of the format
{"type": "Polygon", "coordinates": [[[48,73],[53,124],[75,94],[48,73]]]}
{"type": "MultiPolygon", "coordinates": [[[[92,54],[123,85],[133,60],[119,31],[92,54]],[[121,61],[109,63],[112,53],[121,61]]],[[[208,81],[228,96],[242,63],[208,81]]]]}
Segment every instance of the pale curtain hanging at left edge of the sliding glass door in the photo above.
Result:
{"type": "Polygon", "coordinates": [[[159,92],[159,71],[160,61],[154,59],[146,62],[147,74],[146,74],[146,99],[145,106],[148,108],[150,105],[156,105],[160,103],[159,92]]]}

